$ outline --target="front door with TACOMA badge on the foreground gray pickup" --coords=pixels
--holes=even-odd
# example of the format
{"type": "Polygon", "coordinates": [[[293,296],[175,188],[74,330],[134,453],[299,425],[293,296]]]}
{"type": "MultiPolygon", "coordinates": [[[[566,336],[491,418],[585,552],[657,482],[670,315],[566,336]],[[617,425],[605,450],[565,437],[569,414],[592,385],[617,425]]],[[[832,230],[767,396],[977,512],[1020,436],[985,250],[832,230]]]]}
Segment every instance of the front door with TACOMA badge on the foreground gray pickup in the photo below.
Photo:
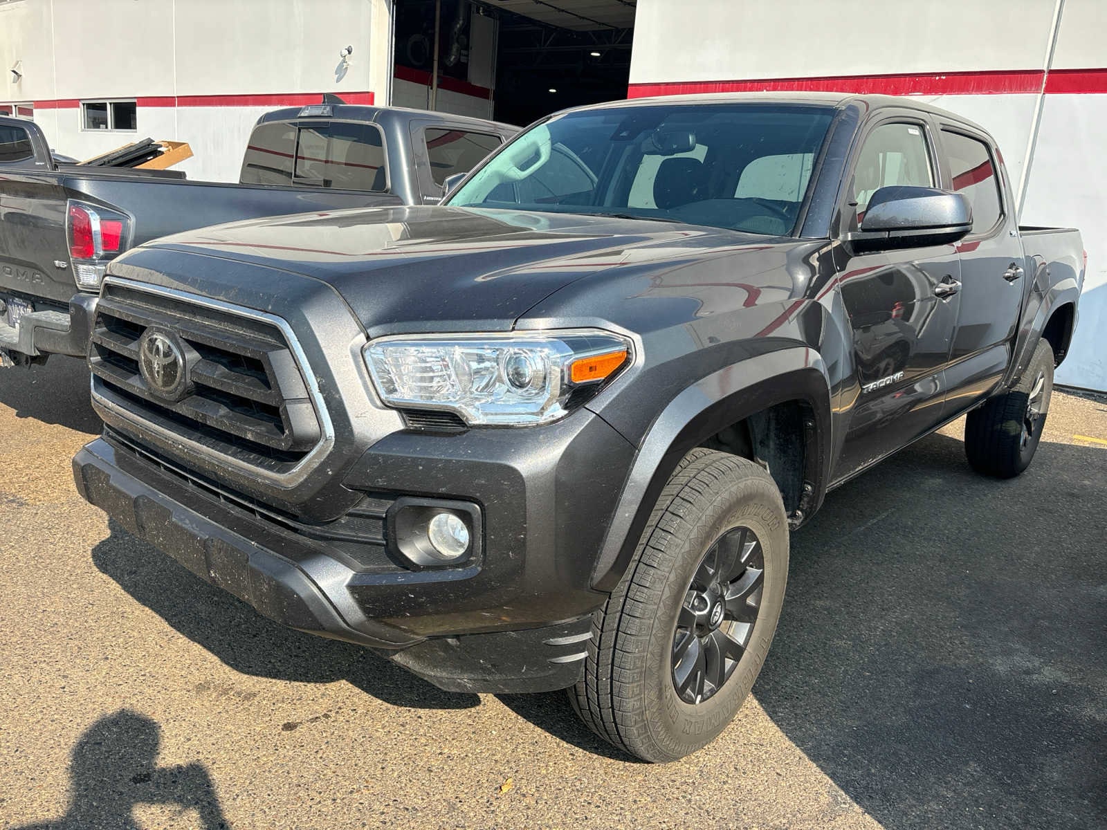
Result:
{"type": "MultiPolygon", "coordinates": [[[[935,187],[937,144],[929,120],[887,112],[868,126],[855,154],[841,207],[841,231],[857,230],[881,187],[935,187]]],[[[933,428],[941,419],[943,371],[958,319],[956,294],[935,287],[960,277],[952,245],[848,257],[838,274],[852,330],[855,386],[842,406],[849,427],[835,478],[842,479],[933,428]]]]}

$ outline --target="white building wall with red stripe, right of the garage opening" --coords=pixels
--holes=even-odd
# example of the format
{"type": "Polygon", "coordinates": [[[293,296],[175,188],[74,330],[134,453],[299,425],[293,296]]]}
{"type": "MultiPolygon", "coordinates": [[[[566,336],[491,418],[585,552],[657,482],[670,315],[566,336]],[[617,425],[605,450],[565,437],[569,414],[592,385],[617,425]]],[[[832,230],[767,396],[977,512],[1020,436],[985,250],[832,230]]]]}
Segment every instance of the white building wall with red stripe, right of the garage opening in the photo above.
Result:
{"type": "Polygon", "coordinates": [[[1104,32],[1105,0],[639,0],[630,95],[918,94],[980,123],[1003,149],[1022,220],[1083,232],[1080,324],[1058,381],[1107,391],[1104,32]]]}

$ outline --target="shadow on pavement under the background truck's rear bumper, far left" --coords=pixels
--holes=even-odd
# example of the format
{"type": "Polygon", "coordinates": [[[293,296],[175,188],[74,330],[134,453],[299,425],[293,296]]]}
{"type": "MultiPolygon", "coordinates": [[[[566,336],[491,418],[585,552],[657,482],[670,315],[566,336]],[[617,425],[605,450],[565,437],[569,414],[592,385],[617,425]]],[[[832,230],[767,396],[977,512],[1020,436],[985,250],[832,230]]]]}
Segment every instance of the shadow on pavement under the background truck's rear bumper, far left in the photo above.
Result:
{"type": "Polygon", "coordinates": [[[54,355],[43,366],[0,369],[0,404],[14,409],[15,417],[79,433],[99,435],[103,428],[90,402],[89,366],[75,357],[54,355]]]}

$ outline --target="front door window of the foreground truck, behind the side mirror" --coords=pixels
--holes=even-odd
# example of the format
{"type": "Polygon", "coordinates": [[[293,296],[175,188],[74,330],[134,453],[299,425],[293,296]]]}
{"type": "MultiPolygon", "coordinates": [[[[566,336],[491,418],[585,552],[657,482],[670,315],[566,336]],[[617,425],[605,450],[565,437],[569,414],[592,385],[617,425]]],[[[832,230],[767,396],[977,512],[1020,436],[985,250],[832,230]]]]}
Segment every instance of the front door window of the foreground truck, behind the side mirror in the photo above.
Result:
{"type": "Polygon", "coordinates": [[[893,185],[934,186],[930,151],[919,124],[881,124],[865,139],[850,183],[850,201],[857,205],[855,229],[872,194],[893,185]]]}

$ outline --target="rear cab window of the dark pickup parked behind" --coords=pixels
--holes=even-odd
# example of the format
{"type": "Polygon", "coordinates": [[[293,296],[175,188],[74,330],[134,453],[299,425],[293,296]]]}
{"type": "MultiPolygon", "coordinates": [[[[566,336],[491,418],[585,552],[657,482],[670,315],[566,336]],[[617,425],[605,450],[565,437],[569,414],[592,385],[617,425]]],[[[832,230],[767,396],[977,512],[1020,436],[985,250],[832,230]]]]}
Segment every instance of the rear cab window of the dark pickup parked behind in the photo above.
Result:
{"type": "Polygon", "coordinates": [[[244,185],[387,189],[381,131],[372,124],[272,123],[256,127],[242,159],[244,185]]]}

